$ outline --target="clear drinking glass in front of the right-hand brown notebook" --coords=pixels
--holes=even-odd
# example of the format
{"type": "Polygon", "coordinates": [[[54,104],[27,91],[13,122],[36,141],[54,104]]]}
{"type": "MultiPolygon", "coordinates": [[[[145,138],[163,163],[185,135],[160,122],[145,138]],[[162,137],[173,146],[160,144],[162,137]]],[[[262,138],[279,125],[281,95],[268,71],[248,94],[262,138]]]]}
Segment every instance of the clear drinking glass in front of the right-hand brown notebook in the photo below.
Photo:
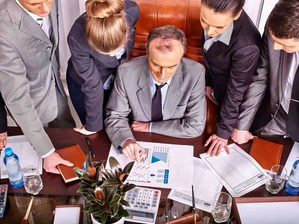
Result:
{"type": "Polygon", "coordinates": [[[272,194],[277,194],[283,189],[287,178],[287,170],[280,165],[274,165],[266,179],[266,189],[272,194]]]}

